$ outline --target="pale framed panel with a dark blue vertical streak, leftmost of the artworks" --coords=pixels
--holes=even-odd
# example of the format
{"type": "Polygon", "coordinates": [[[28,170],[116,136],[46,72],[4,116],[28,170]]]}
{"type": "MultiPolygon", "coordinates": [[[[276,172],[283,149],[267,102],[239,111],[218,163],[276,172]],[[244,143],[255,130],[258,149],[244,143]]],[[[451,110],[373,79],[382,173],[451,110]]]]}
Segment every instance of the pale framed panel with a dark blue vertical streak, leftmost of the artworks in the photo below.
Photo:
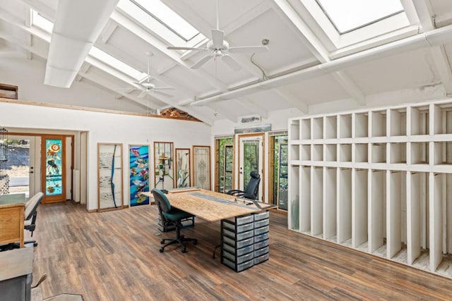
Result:
{"type": "Polygon", "coordinates": [[[97,211],[122,209],[122,144],[97,143],[97,211]]]}

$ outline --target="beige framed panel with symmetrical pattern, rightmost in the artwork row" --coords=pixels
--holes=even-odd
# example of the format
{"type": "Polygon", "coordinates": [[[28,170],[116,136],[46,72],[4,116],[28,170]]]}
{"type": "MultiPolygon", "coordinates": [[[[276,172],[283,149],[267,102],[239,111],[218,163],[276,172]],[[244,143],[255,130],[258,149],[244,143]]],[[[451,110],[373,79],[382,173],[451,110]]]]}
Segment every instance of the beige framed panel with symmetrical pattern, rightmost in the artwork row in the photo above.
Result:
{"type": "Polygon", "coordinates": [[[210,147],[193,146],[193,178],[194,185],[210,190],[210,147]]]}

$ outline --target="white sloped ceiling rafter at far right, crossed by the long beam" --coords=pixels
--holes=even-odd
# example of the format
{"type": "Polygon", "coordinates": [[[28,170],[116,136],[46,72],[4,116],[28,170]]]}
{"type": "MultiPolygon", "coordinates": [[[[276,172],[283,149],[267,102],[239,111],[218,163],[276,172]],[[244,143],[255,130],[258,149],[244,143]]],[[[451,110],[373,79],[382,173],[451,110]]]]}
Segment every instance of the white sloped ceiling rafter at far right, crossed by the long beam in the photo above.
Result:
{"type": "MultiPolygon", "coordinates": [[[[420,19],[422,30],[427,32],[435,29],[433,20],[433,8],[429,1],[424,0],[412,0],[412,4],[415,6],[417,16],[420,19]]],[[[452,94],[452,70],[451,63],[448,60],[446,49],[444,45],[434,46],[430,48],[430,54],[434,61],[434,68],[439,73],[441,82],[446,90],[446,94],[452,94]]]]}

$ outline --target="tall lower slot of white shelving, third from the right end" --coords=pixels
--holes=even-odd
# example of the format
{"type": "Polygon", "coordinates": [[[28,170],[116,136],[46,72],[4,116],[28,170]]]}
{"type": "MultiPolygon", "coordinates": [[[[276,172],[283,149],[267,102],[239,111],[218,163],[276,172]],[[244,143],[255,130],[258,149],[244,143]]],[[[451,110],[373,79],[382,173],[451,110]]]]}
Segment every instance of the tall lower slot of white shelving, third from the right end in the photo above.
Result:
{"type": "Polygon", "coordinates": [[[386,248],[389,259],[402,250],[402,231],[406,228],[406,211],[403,203],[406,202],[406,173],[404,171],[387,171],[386,176],[386,248]]]}

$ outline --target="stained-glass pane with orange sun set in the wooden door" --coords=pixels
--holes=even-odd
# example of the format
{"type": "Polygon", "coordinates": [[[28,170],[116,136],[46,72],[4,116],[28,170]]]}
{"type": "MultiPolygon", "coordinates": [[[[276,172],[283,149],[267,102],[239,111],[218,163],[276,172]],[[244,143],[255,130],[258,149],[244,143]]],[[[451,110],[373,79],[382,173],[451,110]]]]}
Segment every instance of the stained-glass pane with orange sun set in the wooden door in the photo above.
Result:
{"type": "Polygon", "coordinates": [[[61,178],[62,166],[62,148],[61,139],[45,140],[46,147],[46,175],[45,187],[46,195],[61,195],[63,193],[63,180],[61,178]]]}

